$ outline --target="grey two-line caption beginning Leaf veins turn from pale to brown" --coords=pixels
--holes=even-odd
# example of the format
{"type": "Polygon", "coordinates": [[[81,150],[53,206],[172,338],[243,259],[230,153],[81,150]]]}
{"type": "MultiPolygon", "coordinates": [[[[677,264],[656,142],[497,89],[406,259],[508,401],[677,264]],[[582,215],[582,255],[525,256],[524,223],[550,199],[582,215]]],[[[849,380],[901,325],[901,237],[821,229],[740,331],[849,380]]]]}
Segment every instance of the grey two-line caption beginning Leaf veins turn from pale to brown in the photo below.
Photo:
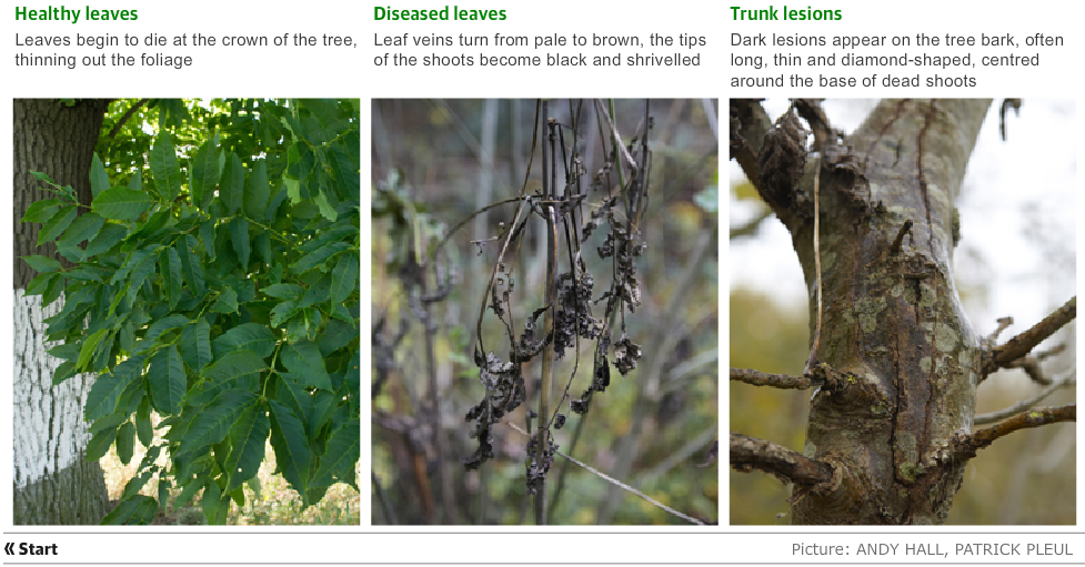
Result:
{"type": "Polygon", "coordinates": [[[374,33],[374,67],[700,67],[704,36],[374,33]],[[465,49],[466,48],[466,49],[465,49]],[[583,49],[577,49],[583,48],[583,49]],[[525,53],[525,50],[529,50],[525,53]],[[534,50],[534,51],[530,51],[534,50]]]}

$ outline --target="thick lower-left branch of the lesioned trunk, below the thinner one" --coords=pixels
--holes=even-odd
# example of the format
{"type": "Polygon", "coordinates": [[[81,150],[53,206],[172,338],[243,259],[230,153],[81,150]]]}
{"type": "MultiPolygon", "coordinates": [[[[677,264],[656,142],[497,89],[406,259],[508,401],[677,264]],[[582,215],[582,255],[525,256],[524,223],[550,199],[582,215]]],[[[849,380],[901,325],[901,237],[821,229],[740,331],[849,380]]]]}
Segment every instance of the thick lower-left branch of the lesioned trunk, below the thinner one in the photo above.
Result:
{"type": "Polygon", "coordinates": [[[833,484],[833,465],[737,433],[731,434],[731,468],[740,473],[762,470],[796,486],[833,484]]]}

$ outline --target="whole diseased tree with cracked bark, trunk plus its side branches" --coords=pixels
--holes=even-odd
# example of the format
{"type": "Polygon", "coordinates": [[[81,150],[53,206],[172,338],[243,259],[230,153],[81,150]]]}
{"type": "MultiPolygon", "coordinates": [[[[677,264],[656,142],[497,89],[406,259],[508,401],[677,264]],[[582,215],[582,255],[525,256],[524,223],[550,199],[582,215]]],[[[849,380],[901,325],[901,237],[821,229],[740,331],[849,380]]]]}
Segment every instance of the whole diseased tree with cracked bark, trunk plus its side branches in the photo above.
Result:
{"type": "Polygon", "coordinates": [[[757,101],[731,101],[732,158],[792,233],[807,285],[815,281],[814,214],[822,242],[826,221],[838,242],[851,241],[837,243],[836,265],[816,274],[835,286],[826,306],[854,315],[826,320],[838,330],[822,343],[826,362],[802,376],[731,369],[732,381],[750,385],[816,388],[804,454],[731,436],[733,468],[795,486],[791,502],[798,523],[944,522],[964,464],[977,449],[1025,427],[1076,419],[1074,406],[1031,409],[970,433],[978,383],[998,368],[1035,365],[1029,353],[1074,318],[1076,298],[1003,345],[976,338],[953,288],[948,254],[960,222],[952,200],[983,108],[905,100],[887,101],[880,111],[861,128],[865,138],[845,142],[817,100],[793,101],[775,124],[757,101]],[[820,159],[807,163],[810,133],[820,159]],[[932,154],[942,159],[925,162],[932,154]],[[821,182],[816,213],[813,175],[821,182]],[[903,192],[885,188],[901,178],[903,192]],[[875,182],[883,185],[876,194],[875,182]],[[844,256],[855,263],[842,267],[844,256]]]}

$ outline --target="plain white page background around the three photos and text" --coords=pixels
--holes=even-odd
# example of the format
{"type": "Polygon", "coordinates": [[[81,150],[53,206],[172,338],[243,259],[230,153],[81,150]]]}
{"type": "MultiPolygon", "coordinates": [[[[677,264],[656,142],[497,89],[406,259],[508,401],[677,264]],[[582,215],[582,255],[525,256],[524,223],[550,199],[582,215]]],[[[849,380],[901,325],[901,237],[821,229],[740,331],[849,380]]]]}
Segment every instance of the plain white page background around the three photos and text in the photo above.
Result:
{"type": "MultiPolygon", "coordinates": [[[[1076,2],[1041,2],[998,6],[988,2],[930,2],[911,1],[900,6],[892,2],[844,2],[810,4],[815,9],[840,9],[844,19],[838,22],[732,22],[727,4],[689,1],[666,2],[584,2],[553,1],[545,3],[498,2],[460,4],[461,8],[504,9],[504,22],[461,23],[461,22],[374,22],[374,6],[392,8],[443,8],[445,3],[412,2],[410,4],[368,4],[355,2],[223,2],[185,1],[137,2],[135,0],[110,0],[92,8],[138,9],[140,18],[134,22],[16,22],[12,18],[12,3],[0,17],[3,33],[0,36],[7,53],[3,55],[4,73],[0,80],[0,179],[10,179],[11,171],[11,104],[12,98],[90,98],[90,97],[360,97],[363,108],[371,98],[424,98],[424,97],[689,97],[716,98],[722,102],[731,97],[786,98],[786,97],[828,97],[828,98],[872,98],[872,97],[1023,97],[1028,111],[1028,99],[1068,99],[1075,101],[1081,110],[1081,69],[1085,49],[1081,43],[1082,9],[1076,2]],[[124,2],[128,2],[127,4],[124,2]],[[637,34],[645,43],[649,33],[677,36],[692,33],[705,36],[707,45],[700,48],[701,65],[695,68],[614,68],[614,69],[492,69],[492,68],[375,68],[374,57],[382,55],[390,48],[375,47],[375,36],[395,36],[404,31],[412,34],[431,32],[442,36],[525,34],[529,37],[559,33],[591,36],[637,34]],[[1041,52],[1039,68],[994,68],[970,69],[967,73],[977,79],[974,89],[883,89],[856,88],[840,89],[783,89],[783,90],[735,90],[729,87],[733,71],[730,62],[731,33],[811,33],[811,34],[904,34],[914,37],[923,31],[928,34],[954,32],[961,34],[1013,33],[1018,41],[1035,32],[1061,34],[1066,47],[1061,49],[1019,50],[1002,48],[989,54],[1016,51],[1021,54],[1041,52]],[[189,54],[194,64],[191,68],[115,69],[84,68],[16,68],[13,53],[19,49],[16,33],[20,36],[52,34],[103,34],[130,33],[140,38],[151,32],[163,36],[179,36],[201,32],[204,34],[267,34],[302,32],[309,36],[322,33],[352,36],[355,48],[122,48],[128,54],[139,58],[141,52],[160,51],[165,54],[189,54]]],[[[48,2],[19,3],[29,8],[60,6],[48,2]]],[[[81,9],[83,2],[78,4],[81,9]]],[[[742,4],[742,8],[761,9],[764,2],[742,4]]],[[[782,4],[774,4],[780,9],[782,4]]],[[[804,3],[802,8],[807,4],[804,3]]],[[[77,8],[77,7],[69,7],[77,8]]],[[[794,8],[794,7],[793,7],[794,8]]],[[[399,49],[399,48],[395,48],[399,49]]],[[[98,54],[93,49],[62,48],[62,54],[98,54]]],[[[106,50],[107,53],[117,51],[106,50]]],[[[432,48],[404,48],[402,52],[424,55],[432,48]]],[[[444,54],[460,51],[472,52],[478,48],[453,48],[440,50],[444,54]]],[[[544,54],[554,49],[535,51],[508,50],[501,54],[544,54]]],[[[613,54],[617,49],[577,49],[566,47],[564,54],[576,52],[589,54],[613,54]]],[[[652,49],[645,47],[642,54],[692,53],[683,48],[652,49]]],[[[803,54],[830,54],[841,50],[832,47],[821,50],[791,49],[803,54]]],[[[39,54],[48,53],[38,49],[39,54]]],[[[756,54],[771,59],[772,50],[762,49],[756,54]]],[[[964,54],[965,52],[987,53],[978,48],[941,50],[940,54],[964,54]]],[[[740,50],[739,54],[753,54],[740,50]]],[[[494,53],[498,54],[498,53],[494,53]]],[[[886,53],[893,54],[893,53],[886,53]]],[[[848,70],[837,70],[842,74],[848,70]]],[[[850,71],[856,71],[851,69],[850,71]]],[[[914,71],[914,70],[913,70],[914,71]]],[[[860,70],[856,77],[871,71],[860,70]]],[[[884,71],[882,71],[884,72],[884,71]]],[[[960,71],[957,71],[960,72],[960,71]]],[[[924,72],[925,74],[927,72],[924,72]]],[[[786,74],[786,73],[785,73],[786,74]]],[[[816,75],[816,71],[814,72],[816,75]]],[[[1026,114],[1023,114],[1023,117],[1026,114]]],[[[722,122],[722,121],[721,121],[722,122]]],[[[1009,125],[1011,136],[1026,128],[1024,118],[1009,125]]],[[[1077,138],[1081,120],[1065,123],[1071,138],[1077,138]]],[[[368,132],[369,115],[362,113],[362,130],[368,132]]],[[[723,145],[721,144],[721,149],[723,145]]],[[[723,150],[721,150],[723,151],[723,150]]],[[[1076,148],[1081,155],[1081,144],[1076,148]]],[[[369,179],[370,145],[366,136],[362,144],[362,179],[369,179]]],[[[1072,170],[1073,171],[1073,170],[1072,170]]],[[[1074,178],[1073,189],[1081,189],[1074,178]]],[[[10,210],[10,189],[0,191],[0,207],[10,210]]],[[[368,198],[366,198],[368,199],[368,198]]],[[[362,203],[366,210],[368,202],[362,203]]],[[[1079,206],[1072,211],[1074,219],[1081,216],[1079,206]]],[[[11,281],[11,215],[0,215],[3,243],[0,250],[0,270],[6,281],[11,281]]],[[[369,224],[363,215],[362,247],[369,244],[369,224]]],[[[965,229],[968,230],[967,227],[965,229]]],[[[1076,236],[1079,244],[1079,234],[1076,236]]],[[[721,281],[731,281],[729,252],[721,234],[721,281]]],[[[1079,250],[1081,246],[1077,246],[1079,250]]],[[[362,282],[368,281],[369,263],[362,263],[362,282]]],[[[727,302],[721,290],[720,310],[727,314],[727,302]]],[[[0,310],[11,313],[11,295],[0,294],[0,310]]],[[[363,302],[362,321],[369,321],[369,306],[363,302]]],[[[1001,315],[1003,313],[996,313],[1001,315]]],[[[1023,315],[1018,321],[1026,321],[1023,315]]],[[[722,317],[723,321],[726,317],[722,317]]],[[[723,325],[721,324],[721,327],[723,325]]],[[[721,328],[721,347],[726,348],[727,330],[721,328]]],[[[12,344],[11,330],[0,325],[0,344],[12,344]]],[[[363,367],[370,366],[369,353],[363,344],[363,367]]],[[[0,368],[12,367],[12,353],[0,348],[0,368]]],[[[721,376],[723,375],[721,367],[721,376]]],[[[721,424],[727,423],[727,388],[720,388],[721,424]]],[[[11,486],[11,389],[0,387],[0,484],[11,486]]],[[[724,427],[725,428],[725,427],[724,427]]],[[[368,409],[363,409],[363,439],[370,435],[368,409]]],[[[721,432],[721,437],[726,434],[721,432]]],[[[368,443],[363,443],[362,469],[369,467],[368,443]]],[[[1078,472],[1082,470],[1078,455],[1078,472]]],[[[1081,474],[1081,473],[1078,473],[1081,474]]],[[[7,489],[7,488],[4,488],[7,489]]],[[[363,489],[363,494],[368,490],[363,489]]],[[[825,528],[816,531],[800,528],[777,528],[772,530],[751,530],[726,527],[729,509],[727,490],[721,490],[721,527],[706,529],[659,529],[651,527],[623,528],[552,528],[552,529],[493,529],[479,534],[473,528],[440,528],[412,530],[404,528],[202,528],[185,531],[182,528],[107,529],[96,527],[57,528],[50,533],[10,525],[11,504],[3,498],[0,504],[0,525],[4,527],[3,541],[32,541],[39,545],[58,543],[61,555],[58,558],[42,558],[33,563],[59,560],[121,561],[129,564],[167,561],[253,561],[253,563],[836,563],[837,560],[876,560],[901,563],[968,563],[1002,559],[1016,561],[1055,563],[1085,560],[1085,546],[1079,528],[1023,528],[1023,527],[979,527],[975,529],[848,529],[825,528]],[[240,533],[245,535],[240,535],[240,533]],[[619,533],[620,531],[620,533],[619,533]],[[973,535],[962,535],[962,531],[973,535]],[[1045,531],[1047,535],[1029,535],[1045,531]],[[600,533],[613,533],[599,535],[600,533]],[[376,535],[371,535],[376,534],[376,535]],[[472,535],[474,534],[474,535],[472,535]],[[501,534],[501,535],[493,535],[501,534]],[[541,535],[547,534],[547,535],[541,535]],[[580,535],[577,535],[580,534],[580,535]],[[633,535],[631,535],[633,534],[633,535]],[[1008,556],[973,557],[954,556],[955,544],[965,543],[1065,543],[1071,545],[1074,556],[1008,556]],[[797,556],[792,546],[798,543],[841,544],[852,546],[847,557],[797,556]],[[860,543],[937,544],[940,549],[951,555],[934,561],[922,556],[895,556],[864,558],[854,555],[860,543]]],[[[1077,495],[1078,523],[1083,499],[1077,495]]],[[[369,498],[362,498],[362,522],[368,525],[369,498]]],[[[2,556],[6,561],[27,560],[26,557],[2,556]]]]}

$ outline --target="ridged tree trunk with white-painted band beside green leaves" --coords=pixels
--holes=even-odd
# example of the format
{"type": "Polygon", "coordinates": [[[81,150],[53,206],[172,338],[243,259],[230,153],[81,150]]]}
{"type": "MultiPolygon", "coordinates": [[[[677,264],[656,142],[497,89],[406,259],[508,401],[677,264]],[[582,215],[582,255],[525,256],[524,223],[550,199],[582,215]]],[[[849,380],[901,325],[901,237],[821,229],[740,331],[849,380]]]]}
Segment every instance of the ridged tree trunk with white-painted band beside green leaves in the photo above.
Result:
{"type": "MultiPolygon", "coordinates": [[[[93,379],[76,376],[53,387],[59,361],[46,351],[43,318],[60,312],[63,298],[42,308],[41,296],[24,297],[36,275],[20,256],[58,257],[52,245],[38,247],[40,225],[20,223],[27,206],[50,193],[36,189],[30,171],[71,185],[90,203],[90,164],[108,101],[19,100],[13,108],[14,200],[14,486],[16,525],[98,524],[108,506],[98,463],[83,454],[90,435],[82,419],[93,379]]],[[[68,263],[60,259],[64,265],[68,263]]]]}

